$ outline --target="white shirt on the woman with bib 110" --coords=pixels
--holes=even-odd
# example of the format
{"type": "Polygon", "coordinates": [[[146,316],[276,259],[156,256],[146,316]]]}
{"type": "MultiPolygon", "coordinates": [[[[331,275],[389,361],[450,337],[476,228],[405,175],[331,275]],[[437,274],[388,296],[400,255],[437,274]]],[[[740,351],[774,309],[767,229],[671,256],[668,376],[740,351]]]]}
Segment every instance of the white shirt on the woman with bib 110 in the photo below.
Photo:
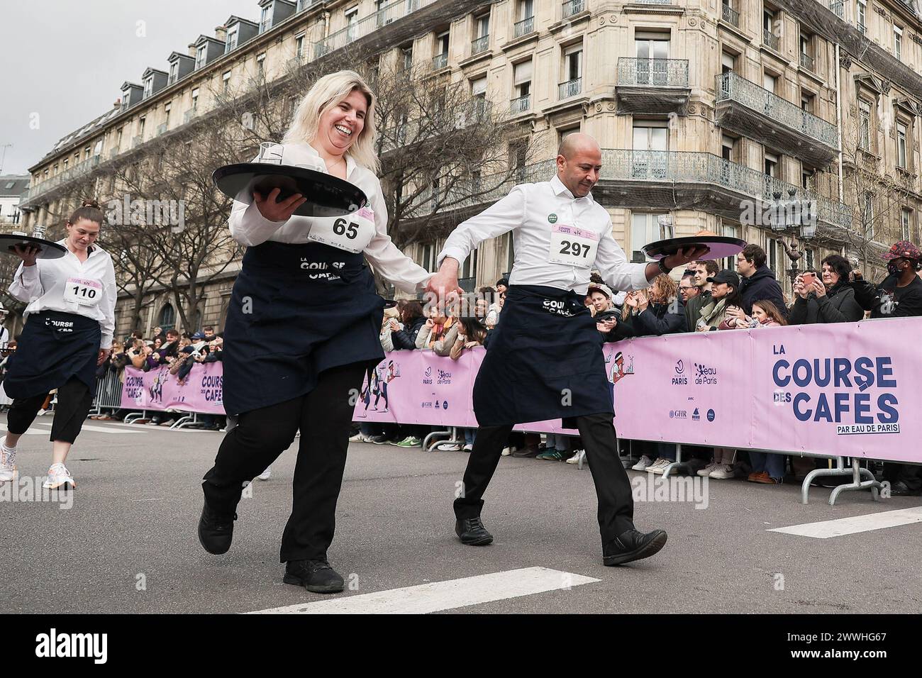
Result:
{"type": "MultiPolygon", "coordinates": [[[[58,244],[64,245],[65,240],[58,244]]],[[[80,261],[70,250],[65,256],[56,259],[36,259],[35,266],[19,264],[9,293],[20,302],[28,302],[24,317],[41,311],[60,311],[74,315],[83,315],[96,320],[102,330],[100,349],[112,346],[115,333],[115,302],[118,289],[115,287],[115,268],[112,256],[98,245],[92,245],[86,261],[80,261]],[[85,306],[77,302],[65,301],[64,292],[68,278],[96,280],[102,285],[102,297],[99,303],[85,306]]]]}

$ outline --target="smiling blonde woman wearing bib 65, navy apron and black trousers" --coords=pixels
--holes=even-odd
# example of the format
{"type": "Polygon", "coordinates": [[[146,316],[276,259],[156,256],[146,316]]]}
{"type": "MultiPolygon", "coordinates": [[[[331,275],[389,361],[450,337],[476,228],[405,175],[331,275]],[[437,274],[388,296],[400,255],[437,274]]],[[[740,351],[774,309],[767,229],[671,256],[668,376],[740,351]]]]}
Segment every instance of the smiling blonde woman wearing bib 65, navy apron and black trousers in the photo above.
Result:
{"type": "Polygon", "coordinates": [[[275,188],[254,193],[252,205],[235,201],[230,218],[234,239],[247,245],[224,331],[224,409],[236,425],[202,482],[198,537],[208,553],[231,548],[242,483],[278,458],[300,428],[280,560],[286,583],[318,593],[343,589],[326,551],[362,376],[384,359],[384,300],[365,259],[403,291],[420,290],[432,275],[387,235],[375,136],[374,95],[361,77],[320,78],[276,151],[286,165],[355,184],[369,205],[350,214],[344,230],[337,228],[342,219],[294,215],[305,198],[278,201],[275,188]]]}

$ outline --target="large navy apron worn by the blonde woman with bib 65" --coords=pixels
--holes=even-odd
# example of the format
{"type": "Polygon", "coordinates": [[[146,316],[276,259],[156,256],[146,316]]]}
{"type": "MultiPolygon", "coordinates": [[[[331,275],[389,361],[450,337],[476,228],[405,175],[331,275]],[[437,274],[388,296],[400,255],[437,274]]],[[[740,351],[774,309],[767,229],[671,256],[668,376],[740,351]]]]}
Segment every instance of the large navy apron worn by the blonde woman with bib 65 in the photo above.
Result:
{"type": "Polygon", "coordinates": [[[224,410],[236,416],[303,396],[331,367],[380,363],[383,319],[361,253],[318,243],[249,247],[224,330],[224,410]]]}

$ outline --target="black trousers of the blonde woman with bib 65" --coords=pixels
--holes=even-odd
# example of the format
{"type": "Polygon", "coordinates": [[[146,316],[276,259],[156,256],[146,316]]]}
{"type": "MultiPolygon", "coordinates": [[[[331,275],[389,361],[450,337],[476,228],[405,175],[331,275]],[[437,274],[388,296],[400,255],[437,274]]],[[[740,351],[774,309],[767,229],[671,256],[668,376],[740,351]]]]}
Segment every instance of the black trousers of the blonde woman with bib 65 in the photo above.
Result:
{"type": "Polygon", "coordinates": [[[208,505],[233,513],[242,483],[266,470],[301,429],[291,515],[282,535],[283,563],[326,558],[336,529],[353,396],[364,374],[365,363],[335,367],[321,373],[317,386],[305,396],[242,412],[224,436],[214,467],[205,474],[202,489],[208,505]]]}

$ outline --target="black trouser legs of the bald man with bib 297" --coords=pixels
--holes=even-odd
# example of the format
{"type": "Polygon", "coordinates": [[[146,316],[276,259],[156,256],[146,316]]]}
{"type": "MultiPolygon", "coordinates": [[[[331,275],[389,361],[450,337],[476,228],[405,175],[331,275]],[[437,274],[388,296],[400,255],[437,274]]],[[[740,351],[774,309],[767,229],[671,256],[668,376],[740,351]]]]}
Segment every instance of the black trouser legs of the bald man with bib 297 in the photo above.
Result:
{"type": "MultiPolygon", "coordinates": [[[[631,481],[618,458],[618,437],[611,414],[576,417],[576,425],[583,438],[592,480],[596,484],[598,527],[604,548],[609,541],[634,527],[631,481]]],[[[463,519],[480,515],[483,494],[512,429],[512,424],[509,424],[480,426],[477,430],[474,449],[464,472],[464,493],[455,499],[455,517],[463,519]]]]}

